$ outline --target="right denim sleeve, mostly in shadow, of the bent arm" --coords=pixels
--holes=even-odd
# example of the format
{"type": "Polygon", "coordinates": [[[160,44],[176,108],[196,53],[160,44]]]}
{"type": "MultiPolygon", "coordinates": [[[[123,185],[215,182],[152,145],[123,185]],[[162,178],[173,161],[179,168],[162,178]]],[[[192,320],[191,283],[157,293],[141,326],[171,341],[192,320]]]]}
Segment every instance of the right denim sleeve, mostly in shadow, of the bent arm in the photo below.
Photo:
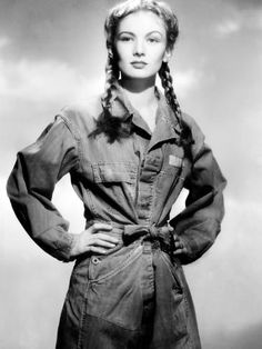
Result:
{"type": "Polygon", "coordinates": [[[188,248],[182,263],[200,258],[214,242],[224,216],[223,189],[226,185],[211,149],[194,121],[192,136],[192,168],[184,187],[189,190],[185,209],[170,225],[188,248]]]}

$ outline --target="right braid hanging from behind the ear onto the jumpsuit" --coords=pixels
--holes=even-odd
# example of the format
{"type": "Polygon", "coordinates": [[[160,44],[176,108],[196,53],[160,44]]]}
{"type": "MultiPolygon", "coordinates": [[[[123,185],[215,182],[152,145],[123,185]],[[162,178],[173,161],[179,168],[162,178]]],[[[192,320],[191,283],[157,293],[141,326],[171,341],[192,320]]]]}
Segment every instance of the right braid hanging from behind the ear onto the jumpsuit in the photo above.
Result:
{"type": "Polygon", "coordinates": [[[192,134],[191,130],[189,127],[182,122],[182,111],[178,101],[178,98],[174,93],[173,89],[173,79],[170,73],[170,69],[167,62],[162,62],[162,66],[159,70],[159,76],[161,79],[162,87],[164,89],[164,96],[167,98],[168,103],[170,104],[171,109],[174,112],[174,116],[178,120],[178,123],[181,128],[181,133],[180,133],[180,141],[179,143],[184,147],[187,150],[190,144],[192,144],[192,134]]]}

